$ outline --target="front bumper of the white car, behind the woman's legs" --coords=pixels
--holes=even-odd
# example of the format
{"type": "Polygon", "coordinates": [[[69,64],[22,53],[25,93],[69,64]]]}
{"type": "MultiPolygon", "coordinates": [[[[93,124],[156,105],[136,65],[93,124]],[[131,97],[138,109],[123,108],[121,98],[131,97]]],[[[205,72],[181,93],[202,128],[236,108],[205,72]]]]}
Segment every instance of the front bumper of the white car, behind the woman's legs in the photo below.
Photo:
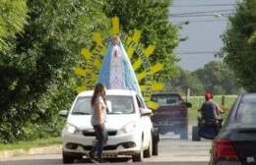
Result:
{"type": "MultiPolygon", "coordinates": [[[[78,153],[88,156],[89,151],[93,148],[95,137],[85,137],[84,135],[73,135],[68,132],[62,132],[62,146],[66,153],[78,153]]],[[[109,136],[107,144],[103,148],[104,157],[115,157],[117,155],[134,155],[141,150],[140,132],[130,134],[109,136]]]]}

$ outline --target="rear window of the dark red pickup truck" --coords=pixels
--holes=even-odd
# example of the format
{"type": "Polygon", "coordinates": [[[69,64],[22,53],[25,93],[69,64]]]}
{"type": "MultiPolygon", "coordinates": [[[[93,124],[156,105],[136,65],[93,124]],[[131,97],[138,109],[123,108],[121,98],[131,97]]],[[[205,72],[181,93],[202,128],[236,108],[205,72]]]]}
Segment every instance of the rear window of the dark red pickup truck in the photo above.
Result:
{"type": "Polygon", "coordinates": [[[180,102],[178,95],[153,95],[152,100],[159,105],[169,105],[180,102]]]}

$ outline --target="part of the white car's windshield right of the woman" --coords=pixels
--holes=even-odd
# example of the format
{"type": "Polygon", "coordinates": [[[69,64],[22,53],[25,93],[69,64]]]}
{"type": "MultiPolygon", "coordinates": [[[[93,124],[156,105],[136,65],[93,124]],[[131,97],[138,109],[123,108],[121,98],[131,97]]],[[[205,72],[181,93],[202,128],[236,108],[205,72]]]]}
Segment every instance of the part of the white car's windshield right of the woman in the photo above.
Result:
{"type": "Polygon", "coordinates": [[[132,96],[108,95],[106,102],[109,114],[132,114],[135,112],[132,96]]]}

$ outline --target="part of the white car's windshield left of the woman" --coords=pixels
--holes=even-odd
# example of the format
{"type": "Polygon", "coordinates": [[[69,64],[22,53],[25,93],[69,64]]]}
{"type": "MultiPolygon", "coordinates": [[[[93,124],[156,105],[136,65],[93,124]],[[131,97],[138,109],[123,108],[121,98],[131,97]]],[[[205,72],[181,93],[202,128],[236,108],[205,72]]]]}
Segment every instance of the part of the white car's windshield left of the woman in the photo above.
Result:
{"type": "Polygon", "coordinates": [[[91,114],[91,97],[78,97],[72,114],[91,114]]]}

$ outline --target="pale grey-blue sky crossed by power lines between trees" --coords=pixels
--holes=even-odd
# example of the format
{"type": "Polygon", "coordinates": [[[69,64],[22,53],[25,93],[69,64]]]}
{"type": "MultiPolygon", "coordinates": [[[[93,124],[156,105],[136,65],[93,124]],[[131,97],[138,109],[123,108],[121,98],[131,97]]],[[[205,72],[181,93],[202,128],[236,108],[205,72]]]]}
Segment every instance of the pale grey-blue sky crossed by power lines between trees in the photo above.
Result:
{"type": "MultiPolygon", "coordinates": [[[[240,1],[240,0],[239,0],[240,1]]],[[[183,70],[195,71],[211,61],[223,61],[215,54],[224,46],[221,34],[227,27],[227,17],[233,14],[238,0],[173,0],[170,21],[180,24],[189,21],[179,31],[182,37],[174,53],[181,59],[177,64],[183,70]]]]}

